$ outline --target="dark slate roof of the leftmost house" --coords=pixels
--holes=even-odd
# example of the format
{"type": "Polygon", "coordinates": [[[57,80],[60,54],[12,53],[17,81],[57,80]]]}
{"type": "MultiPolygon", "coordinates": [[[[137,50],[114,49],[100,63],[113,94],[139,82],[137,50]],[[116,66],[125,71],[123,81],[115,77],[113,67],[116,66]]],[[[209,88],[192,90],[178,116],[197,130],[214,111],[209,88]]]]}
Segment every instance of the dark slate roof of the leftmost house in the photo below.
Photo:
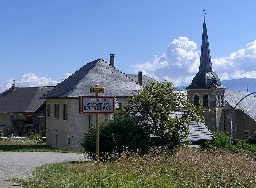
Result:
{"type": "Polygon", "coordinates": [[[45,100],[42,95],[53,87],[16,87],[0,94],[0,113],[35,112],[45,100]]]}

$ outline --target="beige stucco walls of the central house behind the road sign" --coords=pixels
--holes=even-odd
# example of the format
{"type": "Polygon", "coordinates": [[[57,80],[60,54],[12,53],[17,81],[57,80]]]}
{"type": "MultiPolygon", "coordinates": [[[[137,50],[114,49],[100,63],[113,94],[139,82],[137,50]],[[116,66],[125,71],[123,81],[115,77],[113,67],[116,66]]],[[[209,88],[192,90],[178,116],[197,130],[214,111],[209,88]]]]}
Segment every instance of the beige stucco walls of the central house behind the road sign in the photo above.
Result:
{"type": "MultiPolygon", "coordinates": [[[[117,98],[117,100],[122,105],[127,104],[127,98],[117,98]]],[[[46,117],[47,145],[56,149],[56,135],[58,135],[59,150],[81,151],[83,148],[80,143],[84,138],[84,132],[88,131],[90,124],[95,124],[95,114],[80,114],[79,99],[46,99],[46,111],[49,103],[52,114],[51,118],[46,117]],[[54,118],[54,104],[59,104],[59,119],[54,118]],[[68,104],[67,121],[63,120],[63,104],[68,104]]],[[[101,122],[107,117],[113,117],[113,114],[100,114],[99,116],[101,122]]]]}

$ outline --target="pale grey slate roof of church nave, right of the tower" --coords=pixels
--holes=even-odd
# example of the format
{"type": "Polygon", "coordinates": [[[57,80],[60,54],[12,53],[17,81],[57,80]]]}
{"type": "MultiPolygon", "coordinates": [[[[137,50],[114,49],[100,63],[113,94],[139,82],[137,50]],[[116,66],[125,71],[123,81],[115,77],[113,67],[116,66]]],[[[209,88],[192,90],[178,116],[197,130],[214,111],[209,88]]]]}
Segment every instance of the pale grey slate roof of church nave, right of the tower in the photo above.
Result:
{"type": "MultiPolygon", "coordinates": [[[[246,95],[250,94],[245,91],[225,91],[225,106],[224,109],[233,109],[239,100],[241,100],[246,95]]],[[[244,113],[250,116],[256,121],[256,97],[249,95],[244,98],[237,106],[236,109],[244,110],[244,113]]]]}

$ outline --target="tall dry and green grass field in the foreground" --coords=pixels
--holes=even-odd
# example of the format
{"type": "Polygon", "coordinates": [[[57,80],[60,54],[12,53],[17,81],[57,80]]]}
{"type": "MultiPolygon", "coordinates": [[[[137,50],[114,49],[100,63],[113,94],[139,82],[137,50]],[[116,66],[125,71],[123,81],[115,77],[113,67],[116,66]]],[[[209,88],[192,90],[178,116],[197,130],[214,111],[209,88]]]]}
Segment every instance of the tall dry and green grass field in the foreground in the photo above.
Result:
{"type": "Polygon", "coordinates": [[[154,148],[147,155],[127,152],[115,160],[46,164],[33,177],[14,179],[33,188],[256,187],[255,156],[248,153],[154,148]]]}

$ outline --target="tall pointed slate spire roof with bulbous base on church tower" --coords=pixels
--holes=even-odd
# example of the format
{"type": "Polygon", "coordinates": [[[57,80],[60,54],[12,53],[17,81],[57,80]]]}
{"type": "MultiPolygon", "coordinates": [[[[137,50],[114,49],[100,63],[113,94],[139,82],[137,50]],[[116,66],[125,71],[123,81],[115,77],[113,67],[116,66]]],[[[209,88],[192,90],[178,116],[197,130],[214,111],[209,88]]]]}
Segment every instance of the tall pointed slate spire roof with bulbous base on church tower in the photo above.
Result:
{"type": "Polygon", "coordinates": [[[203,35],[201,45],[201,57],[199,71],[192,80],[191,85],[185,89],[199,89],[199,88],[222,88],[219,77],[212,70],[212,61],[210,55],[210,48],[208,42],[208,35],[206,29],[206,23],[204,18],[203,35]]]}

